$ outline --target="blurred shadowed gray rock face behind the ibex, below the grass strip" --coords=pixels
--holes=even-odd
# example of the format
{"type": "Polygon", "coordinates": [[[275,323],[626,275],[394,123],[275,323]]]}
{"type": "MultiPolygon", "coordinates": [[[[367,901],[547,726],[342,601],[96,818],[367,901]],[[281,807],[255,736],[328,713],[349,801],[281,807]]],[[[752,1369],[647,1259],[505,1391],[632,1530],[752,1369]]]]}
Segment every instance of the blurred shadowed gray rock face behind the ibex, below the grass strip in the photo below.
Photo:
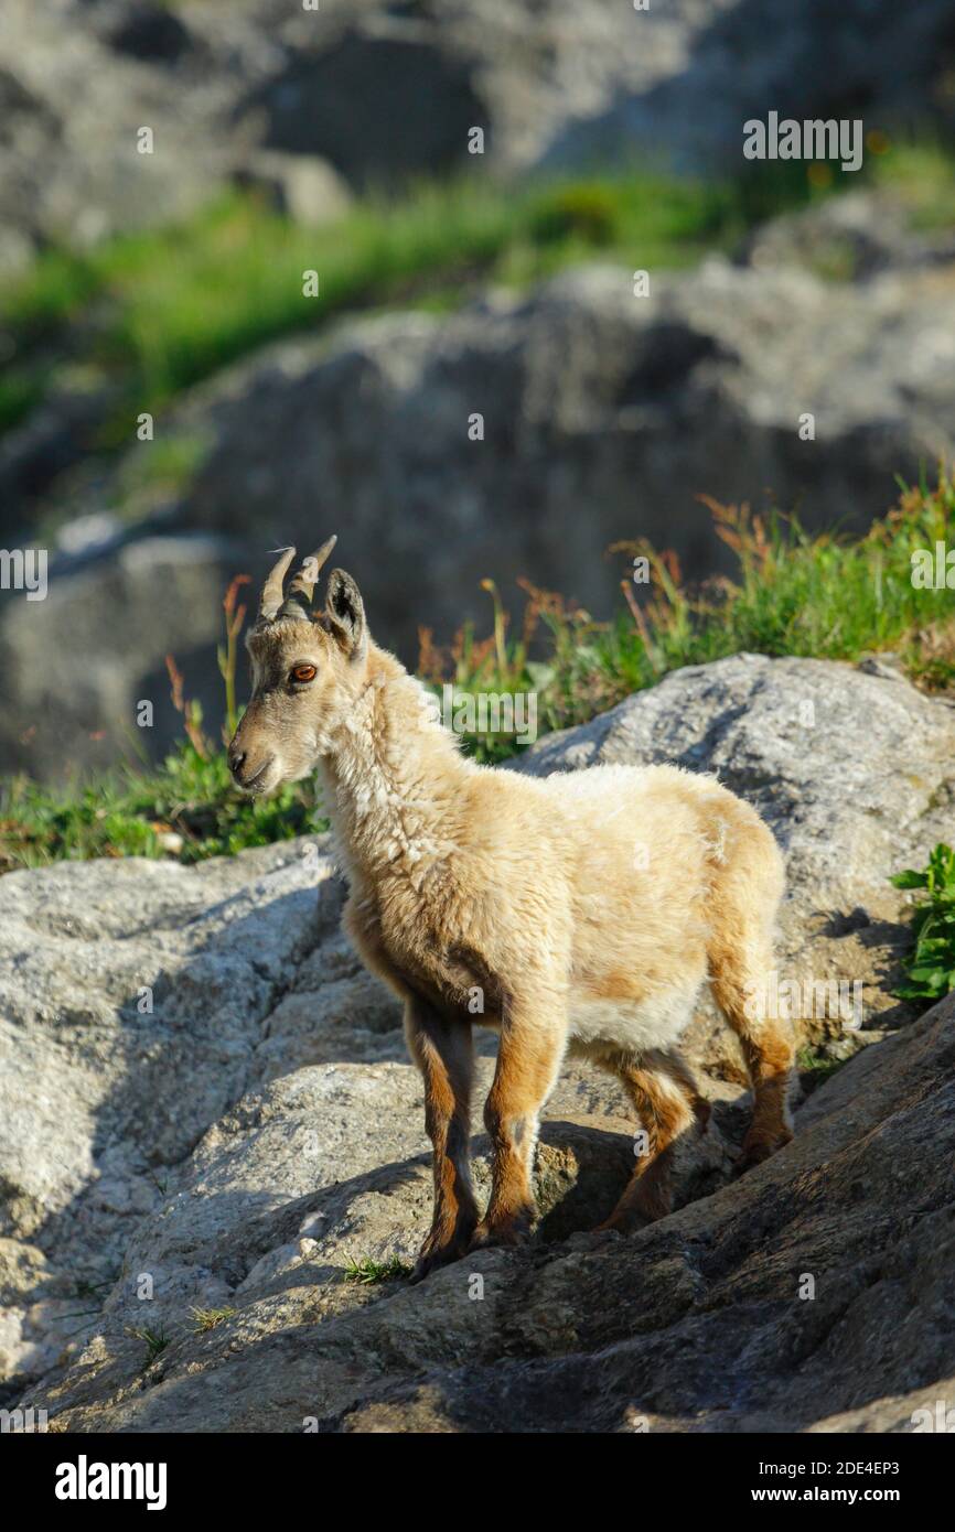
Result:
{"type": "MultiPolygon", "coordinates": [[[[86,624],[81,685],[69,668],[43,685],[80,760],[98,763],[129,731],[130,694],[166,697],[155,676],[167,651],[193,691],[216,674],[228,574],[259,574],[265,550],[290,541],[313,548],[337,530],[372,631],[414,665],[420,625],[440,642],[466,619],[486,627],[484,576],[509,605],[527,574],[605,616],[619,601],[621,565],[605,558],[616,539],[674,547],[691,578],[730,568],[702,492],[762,504],[770,489],[809,527],[865,525],[894,473],[914,481],[920,463],[955,452],[955,268],[915,241],[897,260],[889,247],[871,280],[835,285],[773,264],[802,237],[786,224],[748,265],[655,276],[647,299],[630,273],[595,267],[452,317],[346,322],[196,391],[166,426],[169,440],[210,444],[166,524],[167,601],[141,604],[129,570],[149,550],[136,559],[126,544],[81,574],[54,559],[46,604],[0,596],[0,653],[14,656],[0,764],[55,772],[28,657],[60,645],[63,614],[90,588],[143,613],[123,627],[132,650],[117,654],[115,627],[86,624]],[[481,440],[469,437],[475,414],[481,440]],[[800,440],[806,415],[814,440],[800,440]],[[201,601],[190,544],[173,556],[175,527],[231,542],[231,562],[222,542],[204,559],[201,601]]],[[[169,743],[162,719],[150,743],[169,743]]]]}

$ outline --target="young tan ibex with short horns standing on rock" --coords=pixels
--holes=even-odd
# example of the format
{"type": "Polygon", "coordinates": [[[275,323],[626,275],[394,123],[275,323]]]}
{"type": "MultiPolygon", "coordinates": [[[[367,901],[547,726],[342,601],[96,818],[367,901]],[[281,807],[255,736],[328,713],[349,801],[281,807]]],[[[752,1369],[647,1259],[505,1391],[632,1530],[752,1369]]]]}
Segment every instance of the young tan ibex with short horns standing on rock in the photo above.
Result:
{"type": "Polygon", "coordinates": [[[673,1052],[707,979],[753,1083],[740,1164],[773,1154],[791,1138],[793,1042],[757,999],[783,890],[759,815],[714,778],[671,766],[547,780],[475,766],[420,683],[372,643],[350,574],[333,570],[327,610],[310,614],[333,544],[287,593],[293,548],[265,581],[248,634],[251,702],[228,760],[256,794],[322,772],[350,882],[346,930],[405,1002],[425,1079],[434,1223],[415,1276],[529,1227],[538,1115],[566,1054],[619,1075],[648,1138],[609,1226],[668,1212],[674,1140],[708,1115],[673,1052]],[[474,1022],[500,1031],[480,1221],[474,1022]]]}

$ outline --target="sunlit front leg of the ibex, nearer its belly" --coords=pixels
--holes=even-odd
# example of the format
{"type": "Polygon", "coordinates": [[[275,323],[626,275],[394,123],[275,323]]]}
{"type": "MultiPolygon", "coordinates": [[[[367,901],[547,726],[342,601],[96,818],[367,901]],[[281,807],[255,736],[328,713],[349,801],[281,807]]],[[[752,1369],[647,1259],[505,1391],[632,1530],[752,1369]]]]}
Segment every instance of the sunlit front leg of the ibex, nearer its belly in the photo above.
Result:
{"type": "Polygon", "coordinates": [[[504,1007],[494,1085],[484,1106],[491,1135],[492,1187],[474,1247],[517,1244],[529,1230],[538,1117],[556,1080],[566,1043],[563,1005],[510,1002],[504,1007]]]}

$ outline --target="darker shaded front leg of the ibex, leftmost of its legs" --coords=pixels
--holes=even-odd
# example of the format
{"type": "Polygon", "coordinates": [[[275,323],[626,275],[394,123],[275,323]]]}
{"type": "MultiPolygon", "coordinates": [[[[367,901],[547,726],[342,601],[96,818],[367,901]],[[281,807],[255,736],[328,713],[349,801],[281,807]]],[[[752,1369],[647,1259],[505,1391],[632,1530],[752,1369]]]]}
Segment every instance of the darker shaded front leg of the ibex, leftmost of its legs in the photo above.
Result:
{"type": "Polygon", "coordinates": [[[471,1189],[471,1025],[446,1020],[420,996],[405,1002],[405,1037],[425,1080],[425,1124],[434,1146],[434,1219],[412,1282],[464,1253],[477,1224],[471,1189]]]}

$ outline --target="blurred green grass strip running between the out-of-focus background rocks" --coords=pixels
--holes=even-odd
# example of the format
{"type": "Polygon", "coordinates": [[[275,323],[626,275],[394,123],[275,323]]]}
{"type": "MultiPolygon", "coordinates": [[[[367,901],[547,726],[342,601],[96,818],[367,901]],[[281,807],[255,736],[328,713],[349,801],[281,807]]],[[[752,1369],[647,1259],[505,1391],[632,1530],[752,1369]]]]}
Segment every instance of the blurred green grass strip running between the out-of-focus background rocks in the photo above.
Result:
{"type": "Polygon", "coordinates": [[[0,291],[0,325],[17,348],[0,429],[58,366],[81,363],[115,394],[100,444],[118,446],[141,411],[155,414],[256,346],[345,309],[451,306],[478,280],[521,285],[595,253],[633,268],[685,265],[820,195],[805,165],[754,167],[727,182],[635,172],[518,188],[472,175],[363,199],[316,230],[254,195],[227,195],[175,228],[83,253],[51,248],[0,291]],[[302,293],[311,270],[317,297],[302,293]]]}

